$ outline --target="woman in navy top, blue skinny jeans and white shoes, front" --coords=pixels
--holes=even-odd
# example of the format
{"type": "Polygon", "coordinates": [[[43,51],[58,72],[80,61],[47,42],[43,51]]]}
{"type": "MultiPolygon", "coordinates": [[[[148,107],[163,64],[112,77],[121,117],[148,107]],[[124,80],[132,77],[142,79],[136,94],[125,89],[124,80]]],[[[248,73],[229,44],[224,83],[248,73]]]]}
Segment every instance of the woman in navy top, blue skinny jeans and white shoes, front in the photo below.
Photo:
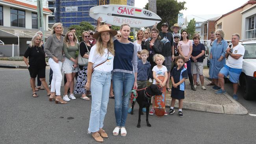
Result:
{"type": "Polygon", "coordinates": [[[121,39],[114,41],[113,89],[115,93],[116,127],[113,135],[126,136],[125,123],[129,108],[130,91],[137,89],[137,48],[128,40],[130,26],[122,24],[121,39]],[[133,74],[134,70],[134,74],[133,74]]]}

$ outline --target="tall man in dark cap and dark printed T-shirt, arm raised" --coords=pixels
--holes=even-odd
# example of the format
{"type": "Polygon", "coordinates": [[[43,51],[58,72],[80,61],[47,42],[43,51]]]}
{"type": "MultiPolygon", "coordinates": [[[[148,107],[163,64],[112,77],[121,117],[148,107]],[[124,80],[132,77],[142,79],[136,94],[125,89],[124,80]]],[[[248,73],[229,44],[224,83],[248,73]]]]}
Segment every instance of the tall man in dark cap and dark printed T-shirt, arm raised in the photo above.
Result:
{"type": "MultiPolygon", "coordinates": [[[[165,57],[165,61],[163,65],[166,66],[167,73],[168,73],[166,89],[168,91],[171,91],[169,87],[169,81],[170,81],[170,72],[171,72],[171,62],[174,60],[174,42],[173,42],[172,33],[168,31],[168,26],[169,25],[167,22],[162,23],[161,25],[162,31],[159,32],[159,35],[161,37],[161,41],[164,44],[161,52],[161,55],[165,57]]],[[[153,28],[156,28],[156,25],[154,25],[153,28]]]]}

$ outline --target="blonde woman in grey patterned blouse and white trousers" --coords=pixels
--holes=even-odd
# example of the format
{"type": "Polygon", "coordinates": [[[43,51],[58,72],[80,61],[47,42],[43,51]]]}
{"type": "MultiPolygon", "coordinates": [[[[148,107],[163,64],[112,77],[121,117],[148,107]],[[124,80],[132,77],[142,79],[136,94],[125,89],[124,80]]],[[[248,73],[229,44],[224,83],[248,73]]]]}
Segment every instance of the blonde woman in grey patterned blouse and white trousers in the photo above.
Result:
{"type": "Polygon", "coordinates": [[[48,63],[53,71],[49,101],[55,99],[56,103],[66,104],[67,102],[61,98],[60,93],[62,81],[61,66],[64,61],[64,56],[62,54],[64,37],[61,35],[62,33],[63,27],[61,23],[56,23],[52,26],[51,35],[47,38],[45,43],[45,53],[50,57],[48,63]],[[56,96],[54,93],[55,91],[56,96]]]}

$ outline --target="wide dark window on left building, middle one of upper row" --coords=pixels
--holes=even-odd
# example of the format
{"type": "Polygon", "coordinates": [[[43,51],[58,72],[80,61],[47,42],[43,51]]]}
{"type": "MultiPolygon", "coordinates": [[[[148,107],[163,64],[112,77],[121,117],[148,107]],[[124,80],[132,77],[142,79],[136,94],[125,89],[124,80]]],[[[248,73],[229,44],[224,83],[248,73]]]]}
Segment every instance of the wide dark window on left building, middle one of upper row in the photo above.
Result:
{"type": "Polygon", "coordinates": [[[25,11],[11,8],[11,26],[25,28],[25,11]]]}

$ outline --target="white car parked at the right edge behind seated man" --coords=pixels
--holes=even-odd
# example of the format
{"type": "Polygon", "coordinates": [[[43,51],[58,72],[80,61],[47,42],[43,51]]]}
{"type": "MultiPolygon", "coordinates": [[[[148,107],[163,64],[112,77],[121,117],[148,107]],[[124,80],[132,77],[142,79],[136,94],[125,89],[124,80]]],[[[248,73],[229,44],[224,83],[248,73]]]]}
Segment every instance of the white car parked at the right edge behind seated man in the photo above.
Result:
{"type": "Polygon", "coordinates": [[[245,47],[243,68],[239,77],[239,85],[245,94],[245,100],[256,98],[256,41],[240,42],[245,47]]]}

